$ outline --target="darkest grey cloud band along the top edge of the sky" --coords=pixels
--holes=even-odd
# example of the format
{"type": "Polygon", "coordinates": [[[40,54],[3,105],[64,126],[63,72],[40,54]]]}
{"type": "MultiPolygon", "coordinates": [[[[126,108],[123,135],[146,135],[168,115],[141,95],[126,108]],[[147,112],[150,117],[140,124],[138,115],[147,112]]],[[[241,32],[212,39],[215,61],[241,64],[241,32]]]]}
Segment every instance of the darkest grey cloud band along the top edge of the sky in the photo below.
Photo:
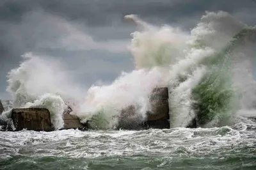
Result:
{"type": "Polygon", "coordinates": [[[205,10],[255,10],[252,0],[20,0],[2,1],[2,19],[19,20],[20,14],[43,8],[49,13],[69,20],[83,20],[89,26],[113,25],[123,20],[124,15],[136,13],[141,17],[158,17],[163,20],[177,20],[181,15],[193,15],[205,10]]]}

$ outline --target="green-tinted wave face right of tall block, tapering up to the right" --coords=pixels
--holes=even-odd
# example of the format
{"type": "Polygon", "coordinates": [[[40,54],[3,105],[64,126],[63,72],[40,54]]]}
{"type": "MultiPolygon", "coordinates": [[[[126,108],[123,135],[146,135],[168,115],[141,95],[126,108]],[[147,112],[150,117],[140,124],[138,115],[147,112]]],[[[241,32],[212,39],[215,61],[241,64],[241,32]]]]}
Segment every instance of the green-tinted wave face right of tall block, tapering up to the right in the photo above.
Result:
{"type": "Polygon", "coordinates": [[[195,109],[199,125],[206,125],[211,121],[219,123],[238,108],[239,91],[232,82],[232,52],[251,32],[252,29],[243,29],[225,49],[201,62],[207,66],[208,71],[192,90],[193,98],[197,101],[195,109]]]}

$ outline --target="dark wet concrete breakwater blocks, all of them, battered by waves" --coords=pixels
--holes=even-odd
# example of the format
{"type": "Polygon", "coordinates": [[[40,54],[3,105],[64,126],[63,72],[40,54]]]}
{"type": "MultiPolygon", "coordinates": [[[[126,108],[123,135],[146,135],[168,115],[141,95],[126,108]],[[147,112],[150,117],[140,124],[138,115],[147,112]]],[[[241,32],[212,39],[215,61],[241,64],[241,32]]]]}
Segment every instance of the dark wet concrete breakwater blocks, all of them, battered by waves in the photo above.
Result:
{"type": "MultiPolygon", "coordinates": [[[[147,128],[170,128],[170,116],[169,116],[169,106],[168,106],[168,88],[155,88],[149,98],[150,105],[147,111],[147,120],[132,122],[129,120],[129,116],[135,116],[136,111],[134,106],[127,107],[121,111],[120,116],[127,116],[125,119],[120,121],[118,128],[122,129],[147,129],[147,128]]],[[[1,111],[0,104],[0,111],[1,111]]],[[[3,109],[2,109],[3,110],[3,109]]],[[[69,107],[63,113],[64,127],[63,129],[69,128],[79,128],[80,130],[87,130],[90,128],[90,121],[86,124],[80,123],[77,116],[70,114],[72,109],[69,107]]],[[[1,112],[0,112],[1,114],[1,112]]],[[[22,130],[26,128],[27,130],[36,131],[52,131],[51,116],[48,109],[12,109],[12,121],[15,130],[22,130]]],[[[3,124],[3,122],[2,122],[3,124]]],[[[2,130],[10,130],[8,123],[5,123],[5,128],[2,130]]]]}

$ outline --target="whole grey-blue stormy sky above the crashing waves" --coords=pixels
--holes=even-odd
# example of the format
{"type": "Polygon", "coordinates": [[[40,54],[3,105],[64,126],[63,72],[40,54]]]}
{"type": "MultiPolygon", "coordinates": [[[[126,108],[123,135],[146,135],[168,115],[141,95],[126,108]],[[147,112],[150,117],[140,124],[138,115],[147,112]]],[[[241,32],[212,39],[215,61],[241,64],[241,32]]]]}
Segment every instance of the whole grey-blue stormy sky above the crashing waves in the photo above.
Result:
{"type": "Polygon", "coordinates": [[[125,15],[189,31],[218,10],[256,24],[253,0],[0,0],[0,99],[10,98],[6,75],[26,52],[60,60],[84,86],[108,83],[134,69],[127,45],[136,27],[125,15]]]}

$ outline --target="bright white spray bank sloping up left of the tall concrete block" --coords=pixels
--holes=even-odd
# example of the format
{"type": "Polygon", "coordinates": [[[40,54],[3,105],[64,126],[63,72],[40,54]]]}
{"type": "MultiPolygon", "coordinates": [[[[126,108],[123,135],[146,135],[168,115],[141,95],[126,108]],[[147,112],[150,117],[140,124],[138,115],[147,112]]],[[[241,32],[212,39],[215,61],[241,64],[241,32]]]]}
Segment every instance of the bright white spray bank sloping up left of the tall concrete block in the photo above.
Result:
{"type": "Polygon", "coordinates": [[[109,86],[93,86],[77,115],[83,121],[91,120],[93,128],[113,128],[118,125],[122,109],[134,105],[136,114],[141,115],[139,121],[143,122],[148,109],[148,95],[163,83],[162,76],[161,68],[140,69],[123,73],[109,86]]]}

